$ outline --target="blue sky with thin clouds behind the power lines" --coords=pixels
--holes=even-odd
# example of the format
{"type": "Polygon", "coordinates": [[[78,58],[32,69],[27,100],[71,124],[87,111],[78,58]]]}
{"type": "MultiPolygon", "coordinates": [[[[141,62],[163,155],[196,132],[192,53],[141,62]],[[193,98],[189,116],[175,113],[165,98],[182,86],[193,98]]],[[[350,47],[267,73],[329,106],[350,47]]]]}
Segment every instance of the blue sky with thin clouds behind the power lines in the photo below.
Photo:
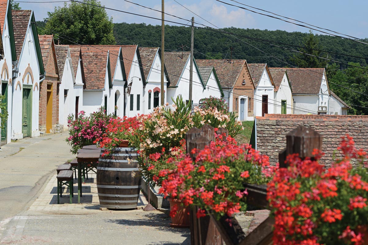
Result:
{"type": "MultiPolygon", "coordinates": [[[[32,0],[34,1],[34,0],[32,0]]],[[[41,0],[38,0],[41,1],[41,0]]],[[[49,1],[49,0],[45,0],[49,1]]],[[[161,9],[160,0],[130,0],[151,8],[161,9]]],[[[272,19],[266,16],[252,13],[237,7],[228,6],[215,0],[177,0],[185,7],[200,15],[202,18],[223,27],[238,27],[238,28],[256,28],[268,30],[286,30],[289,32],[301,31],[308,32],[308,28],[299,27],[280,20],[272,19]]],[[[223,0],[229,3],[230,0],[223,0]]],[[[262,8],[264,10],[275,12],[276,14],[286,17],[298,19],[312,25],[322,28],[331,29],[340,33],[355,36],[358,38],[368,37],[368,19],[367,15],[368,1],[353,0],[263,0],[263,1],[246,1],[237,0],[238,2],[251,5],[253,7],[262,8]]],[[[149,15],[156,18],[161,18],[161,13],[148,10],[125,2],[123,0],[102,0],[102,4],[109,8],[134,12],[142,15],[149,15]]],[[[42,20],[47,17],[47,11],[53,11],[55,6],[61,6],[63,3],[20,3],[23,9],[33,9],[37,20],[42,20]]],[[[239,4],[238,4],[239,5],[239,4]]],[[[245,7],[245,6],[243,6],[245,7]]],[[[256,10],[258,11],[258,10],[256,10]]],[[[191,12],[185,10],[173,0],[165,1],[165,12],[175,16],[190,19],[194,16],[191,12]]],[[[130,14],[124,14],[117,11],[107,10],[107,14],[113,17],[113,22],[128,22],[160,25],[158,20],[138,17],[130,14]]],[[[195,20],[203,24],[209,25],[197,16],[195,20]]],[[[165,17],[167,20],[177,21],[187,24],[186,21],[174,18],[165,17]]],[[[170,24],[170,23],[167,23],[170,24]]],[[[314,33],[318,33],[314,31],[314,33]]],[[[320,33],[322,34],[322,33],[320,33]]]]}

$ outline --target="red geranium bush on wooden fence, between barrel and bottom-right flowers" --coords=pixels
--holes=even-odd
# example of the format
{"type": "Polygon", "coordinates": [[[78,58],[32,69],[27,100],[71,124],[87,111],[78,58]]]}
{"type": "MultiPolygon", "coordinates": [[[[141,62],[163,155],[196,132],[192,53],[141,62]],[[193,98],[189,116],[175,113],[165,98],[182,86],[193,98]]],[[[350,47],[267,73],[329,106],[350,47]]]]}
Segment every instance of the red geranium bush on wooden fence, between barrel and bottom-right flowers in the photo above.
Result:
{"type": "MultiPolygon", "coordinates": [[[[223,215],[231,216],[239,212],[241,202],[247,195],[245,183],[265,183],[269,176],[268,156],[260,155],[250,145],[236,145],[236,141],[227,137],[226,141],[217,137],[205,149],[196,153],[193,161],[188,154],[181,153],[167,162],[176,165],[174,169],[162,169],[156,178],[162,180],[162,192],[165,197],[179,198],[184,205],[198,205],[197,217],[205,215],[205,210],[213,210],[219,219],[223,215]]],[[[171,216],[175,216],[176,208],[171,216]]]]}

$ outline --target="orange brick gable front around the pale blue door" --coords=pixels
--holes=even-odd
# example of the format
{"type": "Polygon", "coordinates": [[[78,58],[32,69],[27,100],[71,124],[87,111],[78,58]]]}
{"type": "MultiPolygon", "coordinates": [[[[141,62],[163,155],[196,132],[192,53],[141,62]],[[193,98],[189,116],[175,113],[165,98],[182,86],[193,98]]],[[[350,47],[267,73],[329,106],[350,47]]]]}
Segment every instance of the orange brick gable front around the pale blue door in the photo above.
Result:
{"type": "MultiPolygon", "coordinates": [[[[252,85],[251,75],[247,69],[247,65],[244,64],[243,69],[241,69],[241,72],[238,76],[238,80],[236,81],[234,88],[233,88],[233,111],[237,112],[239,114],[240,108],[236,104],[239,105],[239,96],[248,96],[248,98],[251,98],[250,105],[246,104],[245,108],[248,111],[248,116],[253,116],[254,110],[253,110],[253,97],[254,97],[254,87],[252,85]],[[243,84],[243,80],[245,80],[245,83],[243,84]],[[237,101],[237,103],[236,103],[237,101]],[[248,107],[250,106],[250,107],[248,107]],[[249,108],[249,109],[248,109],[249,108]]],[[[249,100],[248,100],[249,103],[249,100]]]]}

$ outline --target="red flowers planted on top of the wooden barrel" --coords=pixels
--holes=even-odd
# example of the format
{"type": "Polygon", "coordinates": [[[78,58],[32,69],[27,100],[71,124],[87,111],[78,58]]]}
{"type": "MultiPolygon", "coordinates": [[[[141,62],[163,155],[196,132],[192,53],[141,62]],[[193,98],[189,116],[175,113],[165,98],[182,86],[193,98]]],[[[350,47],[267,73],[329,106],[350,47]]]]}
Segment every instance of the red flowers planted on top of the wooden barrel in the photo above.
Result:
{"type": "Polygon", "coordinates": [[[124,118],[110,118],[106,125],[106,130],[102,137],[96,138],[94,144],[99,144],[101,148],[105,148],[104,154],[109,154],[111,149],[118,147],[123,140],[128,140],[130,134],[139,128],[140,121],[138,116],[124,118]]]}

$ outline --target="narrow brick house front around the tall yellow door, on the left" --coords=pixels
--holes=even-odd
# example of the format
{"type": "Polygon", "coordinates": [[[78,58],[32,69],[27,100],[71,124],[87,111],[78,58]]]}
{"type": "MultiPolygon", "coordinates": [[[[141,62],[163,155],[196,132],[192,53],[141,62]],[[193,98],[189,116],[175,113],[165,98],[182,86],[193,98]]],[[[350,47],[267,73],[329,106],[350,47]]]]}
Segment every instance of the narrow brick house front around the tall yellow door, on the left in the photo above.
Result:
{"type": "MultiPolygon", "coordinates": [[[[49,50],[49,57],[45,66],[46,79],[40,84],[40,100],[39,100],[39,129],[46,130],[47,118],[47,84],[52,85],[52,132],[54,127],[59,123],[59,74],[57,74],[57,60],[53,52],[53,48],[49,50]]],[[[48,132],[47,132],[48,133],[48,132]]]]}

